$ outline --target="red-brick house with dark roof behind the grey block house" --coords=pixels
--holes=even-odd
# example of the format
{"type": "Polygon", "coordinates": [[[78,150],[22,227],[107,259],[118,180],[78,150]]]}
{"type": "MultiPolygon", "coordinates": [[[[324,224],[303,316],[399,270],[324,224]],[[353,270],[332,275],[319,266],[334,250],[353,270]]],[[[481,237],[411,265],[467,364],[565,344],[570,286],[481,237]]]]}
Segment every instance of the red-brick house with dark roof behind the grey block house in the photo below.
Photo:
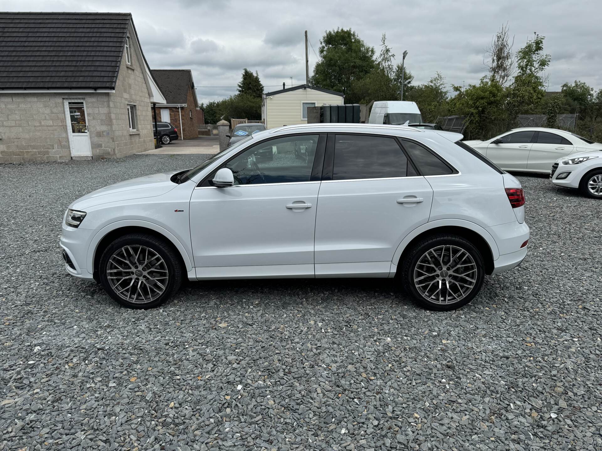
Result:
{"type": "Polygon", "coordinates": [[[167,100],[157,105],[157,115],[161,114],[158,120],[175,126],[182,140],[199,137],[199,101],[190,69],[153,69],[151,72],[167,100]]]}

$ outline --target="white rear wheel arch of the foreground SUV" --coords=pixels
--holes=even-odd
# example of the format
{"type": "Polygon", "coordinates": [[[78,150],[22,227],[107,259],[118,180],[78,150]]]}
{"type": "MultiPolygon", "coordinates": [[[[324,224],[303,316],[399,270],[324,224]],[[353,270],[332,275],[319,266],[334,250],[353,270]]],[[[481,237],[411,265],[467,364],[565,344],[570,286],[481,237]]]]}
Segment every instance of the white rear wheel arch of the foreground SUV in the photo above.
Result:
{"type": "MultiPolygon", "coordinates": [[[[497,244],[489,232],[473,222],[461,219],[427,222],[417,227],[402,240],[393,257],[393,265],[399,266],[412,246],[423,238],[439,233],[462,236],[479,250],[485,262],[486,274],[494,270],[494,261],[500,256],[497,244]]],[[[390,277],[390,276],[389,276],[390,277]]]]}

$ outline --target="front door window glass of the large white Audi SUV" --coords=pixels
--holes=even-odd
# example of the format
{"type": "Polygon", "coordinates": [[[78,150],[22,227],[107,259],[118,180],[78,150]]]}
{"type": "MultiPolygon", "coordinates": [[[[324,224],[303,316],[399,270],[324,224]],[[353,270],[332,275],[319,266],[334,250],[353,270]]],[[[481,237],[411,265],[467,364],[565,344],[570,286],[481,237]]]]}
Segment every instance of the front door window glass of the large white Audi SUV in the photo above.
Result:
{"type": "Polygon", "coordinates": [[[235,185],[309,182],[318,135],[297,135],[264,141],[235,156],[225,167],[235,185]]]}

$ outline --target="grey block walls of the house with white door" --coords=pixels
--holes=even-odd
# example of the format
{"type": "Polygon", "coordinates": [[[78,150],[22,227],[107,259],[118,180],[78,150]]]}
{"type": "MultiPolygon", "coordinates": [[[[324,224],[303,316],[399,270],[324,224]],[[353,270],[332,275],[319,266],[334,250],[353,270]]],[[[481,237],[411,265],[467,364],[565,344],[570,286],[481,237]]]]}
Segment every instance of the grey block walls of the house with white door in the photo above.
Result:
{"type": "MultiPolygon", "coordinates": [[[[134,36],[133,30],[130,33],[134,36]]],[[[125,54],[114,93],[0,91],[0,162],[71,159],[64,99],[84,99],[92,158],[120,158],[154,149],[152,111],[141,55],[125,54]],[[138,130],[130,132],[128,104],[136,105],[138,130]]]]}

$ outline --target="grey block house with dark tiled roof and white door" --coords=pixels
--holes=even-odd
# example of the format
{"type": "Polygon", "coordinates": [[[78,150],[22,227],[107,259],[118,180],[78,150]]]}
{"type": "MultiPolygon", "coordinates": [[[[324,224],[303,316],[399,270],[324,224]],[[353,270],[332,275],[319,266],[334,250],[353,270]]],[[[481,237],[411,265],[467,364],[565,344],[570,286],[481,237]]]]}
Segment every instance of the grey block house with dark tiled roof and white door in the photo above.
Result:
{"type": "Polygon", "coordinates": [[[0,13],[0,162],[154,149],[152,78],[129,13],[0,13]]]}

